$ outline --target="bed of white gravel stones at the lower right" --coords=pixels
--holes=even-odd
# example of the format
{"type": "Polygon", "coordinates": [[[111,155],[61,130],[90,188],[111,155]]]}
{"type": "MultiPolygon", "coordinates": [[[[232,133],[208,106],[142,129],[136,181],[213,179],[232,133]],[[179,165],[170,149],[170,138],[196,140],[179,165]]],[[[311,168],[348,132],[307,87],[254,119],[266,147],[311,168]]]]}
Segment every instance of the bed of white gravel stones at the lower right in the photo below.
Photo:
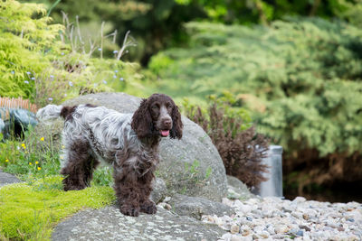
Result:
{"type": "Polygon", "coordinates": [[[220,240],[362,240],[362,204],[280,198],[223,199],[236,214],[203,216],[228,233],[220,240]]]}

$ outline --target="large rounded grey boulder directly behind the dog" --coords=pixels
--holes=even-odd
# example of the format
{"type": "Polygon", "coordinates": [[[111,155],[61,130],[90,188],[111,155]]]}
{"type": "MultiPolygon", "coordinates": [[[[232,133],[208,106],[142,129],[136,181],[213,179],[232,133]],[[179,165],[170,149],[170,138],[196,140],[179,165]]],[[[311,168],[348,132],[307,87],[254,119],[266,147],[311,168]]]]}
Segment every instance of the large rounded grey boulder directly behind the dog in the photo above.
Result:
{"type": "MultiPolygon", "coordinates": [[[[125,93],[98,93],[65,101],[63,106],[93,104],[115,109],[121,113],[133,113],[141,98],[125,93]]],[[[167,195],[175,193],[204,197],[220,201],[226,196],[227,181],[223,161],[204,130],[182,116],[184,134],[181,140],[163,138],[160,144],[160,163],[156,175],[167,185],[167,195]]],[[[37,127],[40,135],[52,133],[57,139],[62,131],[59,120],[54,125],[37,127]],[[52,130],[49,131],[49,128],[52,130]]],[[[49,137],[50,138],[50,137],[49,137]]]]}

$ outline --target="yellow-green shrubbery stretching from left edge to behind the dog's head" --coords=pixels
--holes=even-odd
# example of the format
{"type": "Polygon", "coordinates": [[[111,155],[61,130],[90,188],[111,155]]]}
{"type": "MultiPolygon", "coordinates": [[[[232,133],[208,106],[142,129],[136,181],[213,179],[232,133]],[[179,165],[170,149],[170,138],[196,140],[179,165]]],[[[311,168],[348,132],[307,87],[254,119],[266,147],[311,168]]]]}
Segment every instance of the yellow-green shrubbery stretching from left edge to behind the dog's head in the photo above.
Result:
{"type": "Polygon", "coordinates": [[[25,97],[43,107],[86,93],[142,92],[138,64],[78,53],[72,33],[49,24],[43,5],[8,0],[0,9],[1,97],[25,97]]]}

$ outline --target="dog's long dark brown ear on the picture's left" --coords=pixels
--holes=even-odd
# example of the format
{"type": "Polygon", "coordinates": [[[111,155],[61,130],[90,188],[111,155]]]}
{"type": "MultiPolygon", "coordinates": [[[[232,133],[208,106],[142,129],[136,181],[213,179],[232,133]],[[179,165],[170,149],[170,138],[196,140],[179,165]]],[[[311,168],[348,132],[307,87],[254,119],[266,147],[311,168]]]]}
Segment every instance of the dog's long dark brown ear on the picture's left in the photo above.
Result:
{"type": "Polygon", "coordinates": [[[153,123],[146,98],[141,101],[138,110],[133,114],[131,127],[136,132],[138,138],[148,137],[153,133],[153,123]]]}

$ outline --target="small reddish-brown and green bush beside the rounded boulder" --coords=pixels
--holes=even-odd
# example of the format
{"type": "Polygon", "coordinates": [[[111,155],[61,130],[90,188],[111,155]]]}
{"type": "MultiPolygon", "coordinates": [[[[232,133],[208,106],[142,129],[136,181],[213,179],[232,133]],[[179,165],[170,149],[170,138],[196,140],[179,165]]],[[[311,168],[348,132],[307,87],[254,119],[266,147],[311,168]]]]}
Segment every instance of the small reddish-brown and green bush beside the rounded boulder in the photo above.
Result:
{"type": "Polygon", "coordinates": [[[244,122],[250,119],[247,112],[233,110],[222,97],[212,98],[213,104],[207,111],[186,102],[186,116],[211,137],[223,159],[226,174],[238,178],[251,189],[258,189],[261,181],[266,181],[263,172],[268,171],[268,166],[262,164],[262,158],[266,156],[268,140],[256,134],[254,126],[244,122]]]}

